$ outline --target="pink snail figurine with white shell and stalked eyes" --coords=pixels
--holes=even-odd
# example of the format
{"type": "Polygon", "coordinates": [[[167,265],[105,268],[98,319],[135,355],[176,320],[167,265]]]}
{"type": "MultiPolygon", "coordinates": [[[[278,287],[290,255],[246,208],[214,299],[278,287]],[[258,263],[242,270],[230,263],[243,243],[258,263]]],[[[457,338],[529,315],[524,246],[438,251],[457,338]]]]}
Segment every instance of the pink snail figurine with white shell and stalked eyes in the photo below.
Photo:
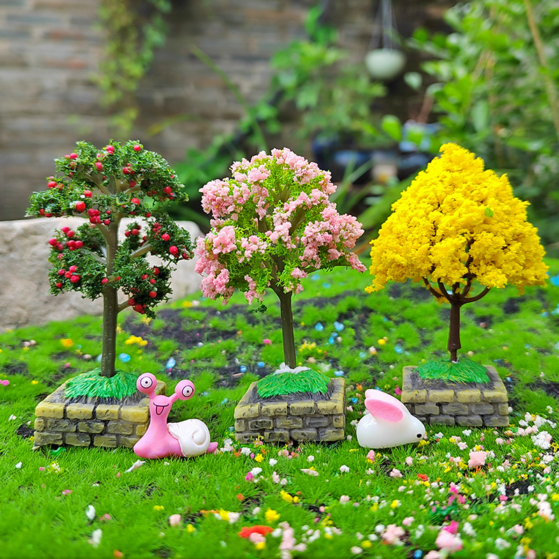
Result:
{"type": "Polygon", "coordinates": [[[157,379],[150,372],[138,377],[136,386],[150,396],[150,426],[145,435],[134,445],[134,452],[142,458],[166,456],[198,456],[217,449],[217,442],[210,442],[210,431],[203,421],[187,419],[180,423],[167,423],[173,402],[188,400],[194,395],[194,383],[180,381],[170,396],[155,395],[157,379]]]}

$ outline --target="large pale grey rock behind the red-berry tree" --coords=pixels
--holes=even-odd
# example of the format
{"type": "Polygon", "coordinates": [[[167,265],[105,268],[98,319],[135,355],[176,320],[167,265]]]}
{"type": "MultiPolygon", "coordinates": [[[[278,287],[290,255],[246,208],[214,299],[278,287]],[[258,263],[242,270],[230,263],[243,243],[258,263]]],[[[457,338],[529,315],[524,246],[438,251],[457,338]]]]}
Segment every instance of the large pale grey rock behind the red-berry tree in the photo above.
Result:
{"type": "MultiPolygon", "coordinates": [[[[121,233],[124,238],[126,223],[121,233]]],[[[76,228],[85,220],[80,217],[51,217],[18,219],[0,222],[0,331],[7,328],[45,324],[52,320],[69,320],[80,314],[101,314],[103,300],[82,299],[78,292],[51,295],[48,270],[50,246],[48,240],[55,229],[76,228]]],[[[189,231],[191,238],[201,236],[198,226],[191,222],[177,222],[189,231]]],[[[149,257],[157,264],[158,259],[149,257]]],[[[171,300],[184,298],[200,287],[200,276],[194,272],[196,259],[181,261],[171,279],[171,300]]],[[[129,312],[129,311],[124,311],[129,312]]],[[[156,310],[157,312],[157,310],[156,310]]]]}

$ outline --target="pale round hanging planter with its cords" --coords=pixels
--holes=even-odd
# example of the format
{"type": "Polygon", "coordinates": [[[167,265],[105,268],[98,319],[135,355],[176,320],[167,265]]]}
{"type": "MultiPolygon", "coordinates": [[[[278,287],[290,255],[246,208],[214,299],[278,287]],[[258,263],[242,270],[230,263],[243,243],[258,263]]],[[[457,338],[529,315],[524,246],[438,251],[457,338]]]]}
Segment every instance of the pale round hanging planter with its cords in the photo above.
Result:
{"type": "Polygon", "coordinates": [[[403,71],[406,56],[399,43],[391,0],[381,0],[370,50],[365,55],[365,67],[372,78],[390,81],[403,71]]]}

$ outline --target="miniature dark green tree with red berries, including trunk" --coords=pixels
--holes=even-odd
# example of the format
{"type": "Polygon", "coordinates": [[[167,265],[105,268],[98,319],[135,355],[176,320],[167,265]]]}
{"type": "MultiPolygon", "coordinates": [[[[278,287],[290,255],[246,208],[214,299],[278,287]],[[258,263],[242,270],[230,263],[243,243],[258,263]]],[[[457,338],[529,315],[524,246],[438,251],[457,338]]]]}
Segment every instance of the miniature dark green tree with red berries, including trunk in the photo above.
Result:
{"type": "Polygon", "coordinates": [[[113,377],[117,315],[127,307],[154,317],[153,307],[167,300],[173,266],[193,255],[189,233],[168,217],[163,204],[186,201],[182,184],[167,161],[137,141],[111,141],[98,150],[78,142],[74,153],[55,160],[59,176],[48,177],[48,189],[31,195],[28,215],[80,215],[87,222],[75,231],[63,227],[48,242],[50,291],[80,291],[84,298],[103,297],[101,377],[113,377]],[[132,222],[119,241],[124,217],[132,222]],[[147,254],[159,256],[151,266],[147,254]],[[128,298],[118,301],[118,291],[128,298]]]}

